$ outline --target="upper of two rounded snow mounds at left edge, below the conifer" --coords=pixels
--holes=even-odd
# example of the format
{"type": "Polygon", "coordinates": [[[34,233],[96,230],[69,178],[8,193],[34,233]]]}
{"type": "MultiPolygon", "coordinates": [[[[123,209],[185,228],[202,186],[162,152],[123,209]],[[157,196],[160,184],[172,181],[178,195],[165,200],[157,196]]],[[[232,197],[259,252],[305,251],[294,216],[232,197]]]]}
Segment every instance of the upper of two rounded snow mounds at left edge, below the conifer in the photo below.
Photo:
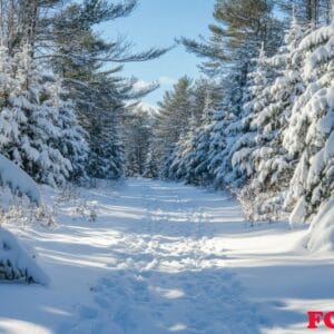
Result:
{"type": "Polygon", "coordinates": [[[0,155],[0,184],[8,186],[12,193],[27,195],[37,205],[41,203],[40,191],[32,178],[2,155],[0,155]]]}

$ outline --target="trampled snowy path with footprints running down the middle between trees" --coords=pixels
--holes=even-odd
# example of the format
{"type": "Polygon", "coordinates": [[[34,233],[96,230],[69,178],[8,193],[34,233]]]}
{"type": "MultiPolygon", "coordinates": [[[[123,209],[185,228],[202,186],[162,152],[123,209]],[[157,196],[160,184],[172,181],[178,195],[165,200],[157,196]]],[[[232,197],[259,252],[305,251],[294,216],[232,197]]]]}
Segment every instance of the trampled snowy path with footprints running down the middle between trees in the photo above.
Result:
{"type": "Polygon", "coordinates": [[[218,238],[245,224],[229,196],[146,179],[111,196],[92,193],[110,271],[91,286],[94,303],[77,305],[76,321],[62,331],[258,333],[256,308],[226,269],[218,238]]]}

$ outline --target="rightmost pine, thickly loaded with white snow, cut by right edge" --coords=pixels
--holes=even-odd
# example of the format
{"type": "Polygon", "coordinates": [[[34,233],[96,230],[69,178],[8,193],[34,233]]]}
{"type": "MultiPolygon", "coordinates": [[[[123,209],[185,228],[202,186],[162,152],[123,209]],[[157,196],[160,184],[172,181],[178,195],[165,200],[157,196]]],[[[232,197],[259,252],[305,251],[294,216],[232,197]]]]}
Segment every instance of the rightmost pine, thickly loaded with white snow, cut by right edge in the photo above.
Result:
{"type": "Polygon", "coordinates": [[[283,144],[298,160],[285,207],[293,226],[305,223],[333,196],[334,24],[307,35],[298,47],[306,89],[295,102],[283,144]]]}

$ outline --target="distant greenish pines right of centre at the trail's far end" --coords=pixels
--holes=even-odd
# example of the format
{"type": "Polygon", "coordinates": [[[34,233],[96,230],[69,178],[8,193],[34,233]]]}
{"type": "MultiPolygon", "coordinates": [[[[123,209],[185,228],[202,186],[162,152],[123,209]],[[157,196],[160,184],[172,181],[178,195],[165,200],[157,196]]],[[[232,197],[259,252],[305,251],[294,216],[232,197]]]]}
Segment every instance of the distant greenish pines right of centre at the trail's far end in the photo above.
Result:
{"type": "Polygon", "coordinates": [[[213,117],[213,106],[219,97],[214,82],[204,79],[193,82],[188,77],[180,78],[174,90],[165,95],[154,118],[154,137],[149,146],[150,160],[154,158],[155,163],[150,161],[148,166],[158,167],[154,176],[191,178],[206,154],[205,145],[209,145],[209,138],[203,138],[199,127],[213,117]],[[191,148],[199,140],[206,141],[202,143],[204,151],[200,157],[191,156],[191,148]]]}

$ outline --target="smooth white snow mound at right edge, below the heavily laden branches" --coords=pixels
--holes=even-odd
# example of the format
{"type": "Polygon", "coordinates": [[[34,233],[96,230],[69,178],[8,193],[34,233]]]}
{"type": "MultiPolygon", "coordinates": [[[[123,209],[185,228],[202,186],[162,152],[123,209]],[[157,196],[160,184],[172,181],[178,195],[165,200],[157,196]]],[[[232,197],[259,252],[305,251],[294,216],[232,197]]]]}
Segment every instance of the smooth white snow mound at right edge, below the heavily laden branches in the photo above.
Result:
{"type": "Polygon", "coordinates": [[[313,218],[306,245],[311,250],[334,250],[334,198],[327,200],[313,218]]]}

